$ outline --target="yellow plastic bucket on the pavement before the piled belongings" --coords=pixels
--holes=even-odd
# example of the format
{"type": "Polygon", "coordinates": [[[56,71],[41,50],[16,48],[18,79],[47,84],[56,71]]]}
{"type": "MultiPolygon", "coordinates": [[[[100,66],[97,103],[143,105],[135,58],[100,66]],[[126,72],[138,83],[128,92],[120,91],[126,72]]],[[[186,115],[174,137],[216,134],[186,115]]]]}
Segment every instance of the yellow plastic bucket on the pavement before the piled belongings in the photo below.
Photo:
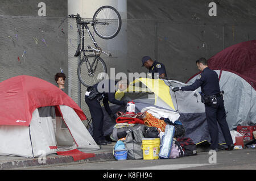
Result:
{"type": "Polygon", "coordinates": [[[160,138],[143,138],[143,159],[158,159],[160,151],[160,138]]]}

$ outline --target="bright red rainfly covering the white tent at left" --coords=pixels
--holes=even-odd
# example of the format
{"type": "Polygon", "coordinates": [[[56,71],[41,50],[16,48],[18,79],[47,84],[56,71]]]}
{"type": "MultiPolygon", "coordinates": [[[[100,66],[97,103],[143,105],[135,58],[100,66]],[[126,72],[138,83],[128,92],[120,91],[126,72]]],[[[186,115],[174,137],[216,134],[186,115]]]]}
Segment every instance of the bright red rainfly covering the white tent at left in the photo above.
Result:
{"type": "Polygon", "coordinates": [[[81,120],[86,120],[67,94],[43,79],[20,75],[0,83],[0,125],[28,126],[36,108],[57,105],[72,107],[81,120]]]}

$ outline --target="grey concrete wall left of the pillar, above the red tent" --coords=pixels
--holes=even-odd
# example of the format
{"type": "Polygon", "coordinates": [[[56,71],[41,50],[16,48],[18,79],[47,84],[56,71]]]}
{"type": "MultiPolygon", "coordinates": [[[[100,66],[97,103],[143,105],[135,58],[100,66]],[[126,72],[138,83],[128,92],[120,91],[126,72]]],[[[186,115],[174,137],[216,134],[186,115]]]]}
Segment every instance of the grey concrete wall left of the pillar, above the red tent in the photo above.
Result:
{"type": "Polygon", "coordinates": [[[39,2],[0,1],[0,81],[26,74],[56,85],[60,68],[68,75],[67,1],[43,1],[46,16],[39,2]]]}

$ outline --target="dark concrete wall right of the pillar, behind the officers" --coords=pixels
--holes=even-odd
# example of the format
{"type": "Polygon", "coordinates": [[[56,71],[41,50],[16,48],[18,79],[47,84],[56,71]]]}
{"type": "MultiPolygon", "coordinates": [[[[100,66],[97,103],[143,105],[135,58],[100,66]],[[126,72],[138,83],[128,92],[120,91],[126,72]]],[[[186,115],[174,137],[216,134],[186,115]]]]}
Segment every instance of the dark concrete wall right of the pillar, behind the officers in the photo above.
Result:
{"type": "Polygon", "coordinates": [[[256,39],[256,1],[127,0],[130,71],[149,55],[166,65],[168,77],[185,82],[197,73],[195,61],[256,39]],[[209,16],[216,2],[217,16],[209,16]]]}

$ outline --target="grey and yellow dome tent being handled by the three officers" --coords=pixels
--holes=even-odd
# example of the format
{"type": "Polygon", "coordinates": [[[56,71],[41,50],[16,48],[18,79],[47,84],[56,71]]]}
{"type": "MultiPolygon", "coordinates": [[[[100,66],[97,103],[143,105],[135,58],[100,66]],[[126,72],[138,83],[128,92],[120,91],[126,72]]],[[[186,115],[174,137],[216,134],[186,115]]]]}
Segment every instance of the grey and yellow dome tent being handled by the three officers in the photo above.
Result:
{"type": "MultiPolygon", "coordinates": [[[[131,83],[131,86],[141,87],[146,86],[147,83],[145,79],[139,79],[141,83],[139,85],[134,85],[131,83]]],[[[170,102],[168,103],[166,99],[160,98],[158,95],[159,92],[156,92],[154,87],[146,86],[147,91],[141,92],[125,92],[121,96],[121,100],[133,100],[136,105],[136,112],[141,112],[141,110],[145,107],[156,107],[162,108],[170,111],[179,112],[180,117],[179,121],[184,125],[185,128],[185,137],[190,137],[195,142],[195,144],[200,144],[202,142],[210,142],[210,136],[208,132],[208,125],[205,116],[204,104],[201,103],[201,96],[198,91],[179,91],[173,92],[171,90],[172,87],[177,86],[185,86],[186,84],[170,81],[170,80],[162,80],[158,79],[159,90],[166,90],[166,96],[170,96],[171,99],[168,99],[172,102],[173,107],[170,107],[170,102]],[[151,89],[149,88],[151,87],[151,89]],[[167,89],[166,89],[167,88],[167,89]],[[196,96],[195,96],[196,95],[196,96]]],[[[143,90],[143,89],[142,89],[143,90]]],[[[162,93],[162,92],[161,92],[162,93]]],[[[116,98],[118,95],[116,94],[116,98]]],[[[167,97],[165,97],[167,98],[167,97]]],[[[120,99],[120,97],[119,97],[120,99]]],[[[110,104],[110,108],[113,112],[122,111],[125,112],[124,106],[117,106],[114,104],[110,104]]],[[[113,126],[115,122],[112,121],[104,110],[104,136],[109,136],[112,134],[113,126]]],[[[225,140],[222,135],[221,130],[219,129],[219,143],[224,144],[225,140]]]]}

